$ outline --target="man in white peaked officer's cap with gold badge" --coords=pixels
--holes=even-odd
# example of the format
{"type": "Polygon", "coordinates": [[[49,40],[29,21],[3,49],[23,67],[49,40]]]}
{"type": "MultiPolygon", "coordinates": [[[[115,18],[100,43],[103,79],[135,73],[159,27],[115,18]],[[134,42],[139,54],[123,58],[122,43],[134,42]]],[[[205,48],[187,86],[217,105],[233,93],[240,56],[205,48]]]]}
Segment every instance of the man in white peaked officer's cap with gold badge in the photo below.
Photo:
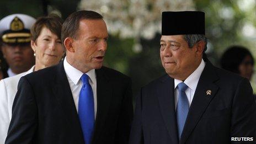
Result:
{"type": "Polygon", "coordinates": [[[30,47],[30,28],[35,18],[26,14],[11,14],[0,21],[3,57],[8,63],[8,76],[28,71],[35,58],[30,47]]]}

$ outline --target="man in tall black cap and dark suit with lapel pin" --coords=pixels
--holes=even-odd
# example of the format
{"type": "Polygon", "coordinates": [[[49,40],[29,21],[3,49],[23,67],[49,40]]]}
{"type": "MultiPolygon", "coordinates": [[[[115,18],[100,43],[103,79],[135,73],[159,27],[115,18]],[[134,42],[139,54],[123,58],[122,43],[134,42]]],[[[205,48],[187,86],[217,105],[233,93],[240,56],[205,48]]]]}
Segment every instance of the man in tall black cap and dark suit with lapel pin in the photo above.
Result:
{"type": "Polygon", "coordinates": [[[162,13],[160,56],[167,74],[141,88],[131,144],[256,140],[252,87],[207,60],[204,18],[204,12],[162,13]]]}

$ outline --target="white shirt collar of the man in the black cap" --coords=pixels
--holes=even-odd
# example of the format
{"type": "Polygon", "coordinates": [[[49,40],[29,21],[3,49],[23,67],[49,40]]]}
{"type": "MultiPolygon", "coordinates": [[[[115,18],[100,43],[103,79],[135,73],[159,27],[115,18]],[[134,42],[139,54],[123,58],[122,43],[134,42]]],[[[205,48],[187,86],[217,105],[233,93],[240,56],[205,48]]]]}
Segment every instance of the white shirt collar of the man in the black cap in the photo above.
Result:
{"type": "MultiPolygon", "coordinates": [[[[201,60],[200,65],[196,70],[190,74],[188,78],[185,79],[184,83],[186,86],[188,86],[190,89],[193,89],[195,91],[196,86],[198,85],[199,78],[202,74],[202,71],[204,70],[205,67],[205,61],[201,60]]],[[[183,81],[180,81],[179,79],[174,79],[174,89],[178,86],[179,83],[183,81]]]]}

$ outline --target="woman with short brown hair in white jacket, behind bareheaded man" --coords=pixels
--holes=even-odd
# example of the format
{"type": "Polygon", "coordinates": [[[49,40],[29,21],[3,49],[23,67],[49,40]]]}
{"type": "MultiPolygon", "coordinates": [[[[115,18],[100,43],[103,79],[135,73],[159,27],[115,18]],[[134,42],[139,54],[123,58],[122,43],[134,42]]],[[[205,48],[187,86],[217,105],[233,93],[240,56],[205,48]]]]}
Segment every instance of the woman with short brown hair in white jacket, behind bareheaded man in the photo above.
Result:
{"type": "Polygon", "coordinates": [[[35,55],[35,66],[29,71],[0,81],[0,143],[4,143],[10,119],[12,105],[17,92],[20,77],[45,67],[57,65],[65,50],[61,43],[63,20],[57,15],[39,18],[31,28],[31,47],[35,55]]]}

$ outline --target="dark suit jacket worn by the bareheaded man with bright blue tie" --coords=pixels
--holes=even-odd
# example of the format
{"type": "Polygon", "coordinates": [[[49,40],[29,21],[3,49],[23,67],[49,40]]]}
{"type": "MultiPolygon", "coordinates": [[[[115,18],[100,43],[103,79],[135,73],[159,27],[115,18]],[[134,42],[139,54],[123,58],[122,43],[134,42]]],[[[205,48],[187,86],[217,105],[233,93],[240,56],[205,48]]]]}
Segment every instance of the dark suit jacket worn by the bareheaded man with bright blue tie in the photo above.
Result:
{"type": "MultiPolygon", "coordinates": [[[[131,79],[106,67],[95,72],[98,107],[92,143],[128,143],[131,79]]],[[[63,62],[20,79],[6,143],[84,144],[63,62]]]]}

